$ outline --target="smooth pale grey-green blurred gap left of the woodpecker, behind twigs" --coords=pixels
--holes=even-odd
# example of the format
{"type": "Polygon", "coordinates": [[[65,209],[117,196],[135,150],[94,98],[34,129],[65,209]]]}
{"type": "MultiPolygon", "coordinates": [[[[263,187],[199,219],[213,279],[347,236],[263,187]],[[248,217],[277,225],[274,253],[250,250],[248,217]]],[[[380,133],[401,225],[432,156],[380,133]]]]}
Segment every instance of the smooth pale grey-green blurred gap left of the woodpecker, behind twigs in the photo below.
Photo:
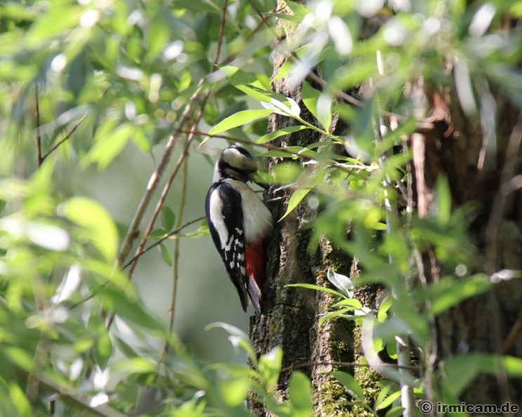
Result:
{"type": "MultiPolygon", "coordinates": [[[[163,152],[165,143],[156,145],[152,154],[144,154],[132,143],[110,164],[105,171],[95,167],[85,171],[64,168],[63,175],[74,175],[77,194],[99,201],[109,210],[114,220],[122,225],[129,225],[135,209],[145,192],[151,173],[163,152]]],[[[213,139],[201,147],[203,152],[212,154],[215,159],[223,148],[225,140],[213,139]]],[[[190,150],[188,164],[187,200],[182,224],[205,215],[204,204],[208,188],[212,183],[213,166],[203,156],[197,145],[190,150]]],[[[182,144],[175,150],[166,170],[165,178],[170,176],[182,152],[182,144]]],[[[178,213],[182,176],[177,176],[170,188],[166,204],[178,213]]],[[[164,180],[156,190],[155,199],[147,211],[145,221],[152,215],[156,199],[161,193],[164,180]]],[[[197,230],[201,222],[187,227],[184,232],[197,230]]],[[[158,220],[156,227],[161,226],[158,220]]],[[[140,228],[145,230],[146,223],[140,228]]],[[[137,239],[139,243],[140,239],[137,239]]],[[[170,253],[173,253],[173,240],[166,241],[170,253]]],[[[131,252],[128,260],[134,254],[131,252]]],[[[253,315],[253,308],[244,313],[230,282],[210,235],[203,237],[181,238],[178,293],[175,307],[175,332],[183,343],[191,345],[199,359],[238,362],[246,364],[246,355],[235,353],[227,340],[227,333],[221,329],[205,327],[213,322],[232,324],[248,333],[248,317],[253,315]]],[[[145,305],[164,322],[168,322],[169,308],[173,289],[173,268],[161,258],[159,249],[145,253],[138,262],[133,274],[133,283],[138,288],[145,305]]],[[[159,346],[161,348],[161,345],[159,346]]]]}

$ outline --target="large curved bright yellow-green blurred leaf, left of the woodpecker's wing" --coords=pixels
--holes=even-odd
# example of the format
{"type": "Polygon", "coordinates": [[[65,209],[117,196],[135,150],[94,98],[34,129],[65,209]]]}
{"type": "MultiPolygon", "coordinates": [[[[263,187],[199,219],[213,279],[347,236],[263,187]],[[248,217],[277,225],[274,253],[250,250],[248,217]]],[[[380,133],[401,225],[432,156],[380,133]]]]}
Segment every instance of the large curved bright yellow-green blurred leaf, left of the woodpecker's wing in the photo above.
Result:
{"type": "Polygon", "coordinates": [[[107,260],[114,263],[118,250],[118,229],[105,207],[85,197],[72,197],[62,204],[65,218],[83,227],[83,236],[107,260]]]}

